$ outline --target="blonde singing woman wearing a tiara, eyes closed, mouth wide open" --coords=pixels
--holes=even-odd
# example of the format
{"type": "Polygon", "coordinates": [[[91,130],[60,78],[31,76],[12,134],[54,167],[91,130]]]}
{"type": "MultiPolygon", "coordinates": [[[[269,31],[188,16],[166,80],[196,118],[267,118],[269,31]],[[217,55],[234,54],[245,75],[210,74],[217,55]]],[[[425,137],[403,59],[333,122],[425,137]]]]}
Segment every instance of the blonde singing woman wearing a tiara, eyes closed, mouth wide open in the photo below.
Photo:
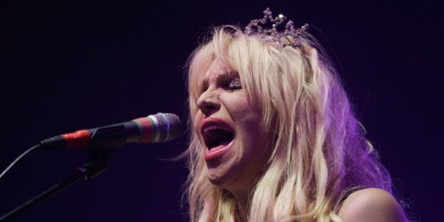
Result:
{"type": "Polygon", "coordinates": [[[215,28],[190,57],[191,221],[406,221],[335,70],[284,20],[215,28]]]}

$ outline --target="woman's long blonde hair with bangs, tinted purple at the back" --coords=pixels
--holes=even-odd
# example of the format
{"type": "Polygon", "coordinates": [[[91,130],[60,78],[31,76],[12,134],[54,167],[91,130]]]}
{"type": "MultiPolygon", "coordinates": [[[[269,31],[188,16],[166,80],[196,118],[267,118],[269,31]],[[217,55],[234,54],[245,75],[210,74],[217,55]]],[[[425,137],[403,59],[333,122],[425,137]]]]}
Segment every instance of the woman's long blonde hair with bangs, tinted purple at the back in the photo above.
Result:
{"type": "Polygon", "coordinates": [[[199,78],[218,58],[240,75],[242,87],[270,129],[273,152],[250,194],[249,221],[340,221],[342,200],[354,190],[391,193],[390,175],[364,137],[335,70],[314,38],[280,47],[265,35],[216,27],[190,56],[190,146],[187,199],[191,221],[235,221],[236,200],[206,177],[193,122],[199,78]]]}

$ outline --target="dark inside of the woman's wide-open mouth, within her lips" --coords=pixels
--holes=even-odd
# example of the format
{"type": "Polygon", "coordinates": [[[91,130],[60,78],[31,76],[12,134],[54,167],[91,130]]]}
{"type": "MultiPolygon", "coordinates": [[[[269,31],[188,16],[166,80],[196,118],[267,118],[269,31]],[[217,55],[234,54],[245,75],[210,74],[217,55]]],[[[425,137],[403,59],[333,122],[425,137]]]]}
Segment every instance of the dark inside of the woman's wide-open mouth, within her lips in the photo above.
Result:
{"type": "Polygon", "coordinates": [[[234,133],[220,128],[218,125],[209,125],[202,128],[202,137],[208,149],[226,146],[234,139],[234,133]]]}

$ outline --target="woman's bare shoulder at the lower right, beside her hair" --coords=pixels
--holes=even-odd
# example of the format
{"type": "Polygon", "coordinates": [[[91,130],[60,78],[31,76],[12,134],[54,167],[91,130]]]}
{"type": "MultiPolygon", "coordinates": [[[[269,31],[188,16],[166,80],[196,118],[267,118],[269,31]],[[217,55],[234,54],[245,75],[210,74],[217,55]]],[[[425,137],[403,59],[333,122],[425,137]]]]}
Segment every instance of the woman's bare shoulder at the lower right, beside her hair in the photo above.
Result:
{"type": "Polygon", "coordinates": [[[344,221],[407,221],[400,204],[385,190],[367,188],[345,199],[338,216],[344,221]]]}

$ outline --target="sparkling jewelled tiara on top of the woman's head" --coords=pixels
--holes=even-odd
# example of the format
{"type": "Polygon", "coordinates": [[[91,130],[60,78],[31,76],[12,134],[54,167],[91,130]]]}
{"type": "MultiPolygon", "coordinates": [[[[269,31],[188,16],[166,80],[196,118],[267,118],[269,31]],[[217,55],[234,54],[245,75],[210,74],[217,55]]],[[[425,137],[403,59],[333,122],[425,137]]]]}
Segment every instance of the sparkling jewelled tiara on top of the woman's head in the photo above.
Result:
{"type": "Polygon", "coordinates": [[[302,44],[300,35],[307,30],[309,25],[305,24],[302,25],[302,27],[295,29],[292,20],[288,20],[287,24],[285,25],[285,30],[283,32],[279,32],[277,27],[281,23],[285,22],[285,20],[287,20],[287,18],[282,14],[279,14],[279,16],[273,18],[273,13],[271,13],[270,8],[266,8],[264,11],[264,18],[251,20],[245,27],[244,33],[247,35],[252,35],[254,33],[259,33],[260,35],[270,35],[273,37],[273,40],[282,47],[286,47],[288,45],[294,48],[300,47],[302,44]],[[271,29],[264,28],[259,25],[259,23],[265,25],[267,22],[272,24],[271,29]],[[283,40],[283,38],[285,38],[286,41],[283,40]]]}

